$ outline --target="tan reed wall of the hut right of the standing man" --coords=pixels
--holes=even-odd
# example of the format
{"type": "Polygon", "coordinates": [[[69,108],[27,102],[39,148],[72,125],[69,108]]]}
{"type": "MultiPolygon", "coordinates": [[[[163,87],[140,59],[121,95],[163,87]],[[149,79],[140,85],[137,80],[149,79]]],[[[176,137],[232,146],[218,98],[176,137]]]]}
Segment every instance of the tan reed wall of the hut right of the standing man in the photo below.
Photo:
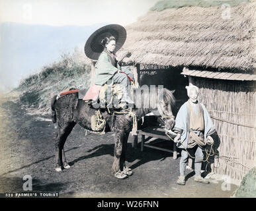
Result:
{"type": "Polygon", "coordinates": [[[192,78],[216,127],[214,171],[241,180],[256,165],[255,82],[192,78]]]}

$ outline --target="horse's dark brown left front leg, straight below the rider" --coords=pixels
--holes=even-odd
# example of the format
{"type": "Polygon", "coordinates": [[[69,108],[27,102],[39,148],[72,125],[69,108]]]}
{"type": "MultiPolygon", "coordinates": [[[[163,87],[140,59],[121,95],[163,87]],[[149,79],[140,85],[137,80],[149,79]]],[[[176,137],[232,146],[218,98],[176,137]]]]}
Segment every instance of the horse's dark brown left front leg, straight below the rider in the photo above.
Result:
{"type": "Polygon", "coordinates": [[[112,164],[112,172],[122,171],[120,166],[120,158],[122,155],[123,142],[125,138],[124,131],[116,131],[114,135],[114,162],[112,164]]]}

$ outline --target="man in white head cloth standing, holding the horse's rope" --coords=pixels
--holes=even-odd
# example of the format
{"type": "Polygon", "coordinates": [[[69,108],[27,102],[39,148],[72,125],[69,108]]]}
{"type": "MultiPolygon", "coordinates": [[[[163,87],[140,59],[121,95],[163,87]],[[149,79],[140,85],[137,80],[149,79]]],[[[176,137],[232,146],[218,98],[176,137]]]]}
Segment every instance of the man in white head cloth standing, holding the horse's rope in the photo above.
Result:
{"type": "Polygon", "coordinates": [[[189,100],[181,106],[175,120],[173,131],[177,133],[174,141],[178,142],[177,146],[181,148],[180,176],[177,184],[185,185],[185,169],[189,155],[194,152],[194,181],[199,183],[209,183],[208,180],[201,177],[201,167],[204,154],[202,148],[206,141],[213,142],[210,135],[215,133],[214,125],[210,115],[197,100],[198,87],[194,85],[186,86],[189,100]]]}

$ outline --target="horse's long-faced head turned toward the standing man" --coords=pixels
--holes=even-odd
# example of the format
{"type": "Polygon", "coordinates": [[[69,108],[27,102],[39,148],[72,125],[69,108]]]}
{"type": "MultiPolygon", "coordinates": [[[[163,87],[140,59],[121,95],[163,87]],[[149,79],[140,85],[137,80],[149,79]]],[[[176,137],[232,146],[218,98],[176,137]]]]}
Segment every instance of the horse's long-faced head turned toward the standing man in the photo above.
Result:
{"type": "Polygon", "coordinates": [[[163,98],[159,100],[157,109],[161,115],[162,121],[165,123],[165,129],[167,131],[173,129],[175,125],[175,116],[173,115],[172,107],[175,104],[175,98],[173,96],[175,90],[170,91],[166,88],[163,89],[163,98]]]}

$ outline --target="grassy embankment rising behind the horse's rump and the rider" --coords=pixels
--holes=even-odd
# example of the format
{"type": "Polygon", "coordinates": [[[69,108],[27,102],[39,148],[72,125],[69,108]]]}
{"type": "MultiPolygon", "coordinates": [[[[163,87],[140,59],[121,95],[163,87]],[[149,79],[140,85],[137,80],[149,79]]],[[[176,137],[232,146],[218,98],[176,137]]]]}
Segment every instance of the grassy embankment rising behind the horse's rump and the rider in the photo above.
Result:
{"type": "Polygon", "coordinates": [[[19,100],[28,108],[49,114],[51,98],[67,88],[87,88],[90,84],[91,66],[82,51],[62,54],[60,61],[46,65],[40,73],[21,81],[16,91],[19,100]]]}

